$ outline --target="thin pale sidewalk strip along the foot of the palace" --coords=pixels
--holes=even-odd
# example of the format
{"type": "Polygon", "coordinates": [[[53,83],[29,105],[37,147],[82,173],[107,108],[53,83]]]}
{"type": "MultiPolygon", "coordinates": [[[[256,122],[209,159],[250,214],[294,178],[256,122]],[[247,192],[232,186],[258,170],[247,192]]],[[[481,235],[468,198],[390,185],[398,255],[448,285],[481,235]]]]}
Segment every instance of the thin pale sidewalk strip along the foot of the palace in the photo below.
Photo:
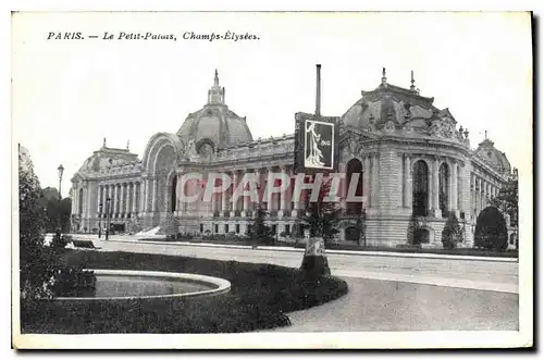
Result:
{"type": "MultiPolygon", "coordinates": [[[[96,235],[74,234],[74,237],[85,237],[87,239],[97,239],[96,235]]],[[[138,238],[115,238],[112,236],[109,241],[118,243],[138,243],[138,244],[157,244],[172,246],[194,246],[194,247],[210,247],[210,248],[231,248],[231,249],[252,249],[248,245],[227,245],[212,243],[189,243],[189,241],[160,241],[160,240],[139,240],[138,238]]],[[[147,237],[149,238],[149,237],[147,237]]],[[[160,238],[160,237],[157,237],[160,238]]],[[[98,240],[98,239],[97,239],[98,240]]],[[[289,251],[304,252],[305,249],[280,246],[258,246],[255,250],[268,251],[289,251]]],[[[499,257],[477,257],[477,256],[460,256],[460,255],[442,255],[442,253],[421,253],[421,252],[394,252],[394,251],[357,251],[357,250],[326,250],[326,253],[346,255],[346,256],[368,256],[368,257],[394,257],[394,258],[424,258],[424,259],[450,259],[450,260],[471,260],[471,261],[492,261],[492,262],[518,262],[517,258],[499,258],[499,257]]]]}

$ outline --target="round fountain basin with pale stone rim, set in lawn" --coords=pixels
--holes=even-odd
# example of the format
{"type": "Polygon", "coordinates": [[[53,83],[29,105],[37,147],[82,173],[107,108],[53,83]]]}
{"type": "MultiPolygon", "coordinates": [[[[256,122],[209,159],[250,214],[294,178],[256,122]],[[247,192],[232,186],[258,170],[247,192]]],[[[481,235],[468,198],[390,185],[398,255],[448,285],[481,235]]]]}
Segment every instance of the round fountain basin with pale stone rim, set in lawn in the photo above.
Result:
{"type": "Polygon", "coordinates": [[[227,293],[226,280],[188,273],[135,270],[95,270],[96,291],[92,296],[58,297],[55,301],[146,300],[214,296],[227,293]]]}

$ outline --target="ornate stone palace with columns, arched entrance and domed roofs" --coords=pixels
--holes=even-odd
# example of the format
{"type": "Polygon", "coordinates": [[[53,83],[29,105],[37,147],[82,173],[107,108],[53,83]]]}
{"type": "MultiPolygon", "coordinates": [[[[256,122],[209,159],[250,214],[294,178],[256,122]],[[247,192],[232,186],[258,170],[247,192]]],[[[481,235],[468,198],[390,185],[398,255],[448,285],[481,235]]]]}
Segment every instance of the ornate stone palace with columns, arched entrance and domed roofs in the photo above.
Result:
{"type": "MultiPolygon", "coordinates": [[[[362,91],[339,121],[339,172],[346,173],[341,194],[359,174],[357,193],[366,199],[346,203],[343,198],[339,241],[410,244],[417,228],[417,241],[442,246],[446,215],[453,212],[463,246],[472,246],[478,214],[512,175],[493,141],[472,149],[468,129],[448,109],[421,96],[413,78],[409,88],[388,84],[385,71],[381,84],[362,91]],[[363,233],[356,228],[361,216],[363,233]]],[[[228,109],[215,72],[207,104],[188,114],[177,133],[153,135],[141,159],[104,140],[85,161],[72,178],[73,229],[103,228],[108,208],[111,223],[125,232],[244,234],[256,209],[248,197],[232,203],[226,193],[209,202],[181,202],[182,175],[228,173],[236,184],[250,172],[265,184],[271,173],[295,175],[294,146],[294,135],[254,139],[246,117],[228,109]]],[[[287,190],[265,196],[261,206],[281,237],[292,233],[306,203],[287,190]]]]}

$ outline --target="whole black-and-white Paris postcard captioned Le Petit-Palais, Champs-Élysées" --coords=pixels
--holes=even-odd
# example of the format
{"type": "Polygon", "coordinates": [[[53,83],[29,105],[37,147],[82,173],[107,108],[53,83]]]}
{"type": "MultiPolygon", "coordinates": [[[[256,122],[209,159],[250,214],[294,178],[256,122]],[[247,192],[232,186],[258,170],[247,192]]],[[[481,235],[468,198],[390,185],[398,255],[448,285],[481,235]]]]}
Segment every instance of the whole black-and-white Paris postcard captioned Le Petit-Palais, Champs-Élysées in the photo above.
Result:
{"type": "Polygon", "coordinates": [[[532,347],[532,24],[13,12],[13,347],[532,347]]]}

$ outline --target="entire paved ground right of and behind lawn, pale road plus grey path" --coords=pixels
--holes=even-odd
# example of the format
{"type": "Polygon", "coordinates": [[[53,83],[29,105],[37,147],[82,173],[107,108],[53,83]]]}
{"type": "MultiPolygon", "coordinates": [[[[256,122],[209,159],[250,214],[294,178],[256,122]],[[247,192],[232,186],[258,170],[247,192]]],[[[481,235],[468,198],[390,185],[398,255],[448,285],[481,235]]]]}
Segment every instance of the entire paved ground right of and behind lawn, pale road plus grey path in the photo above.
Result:
{"type": "MultiPolygon", "coordinates": [[[[300,252],[143,244],[113,239],[96,246],[184,257],[298,268],[300,252]]],[[[346,296],[288,314],[292,326],[273,332],[517,330],[518,264],[478,260],[327,255],[346,296]],[[437,286],[436,286],[437,285],[437,286]]],[[[267,332],[270,332],[268,330],[267,332]]]]}

